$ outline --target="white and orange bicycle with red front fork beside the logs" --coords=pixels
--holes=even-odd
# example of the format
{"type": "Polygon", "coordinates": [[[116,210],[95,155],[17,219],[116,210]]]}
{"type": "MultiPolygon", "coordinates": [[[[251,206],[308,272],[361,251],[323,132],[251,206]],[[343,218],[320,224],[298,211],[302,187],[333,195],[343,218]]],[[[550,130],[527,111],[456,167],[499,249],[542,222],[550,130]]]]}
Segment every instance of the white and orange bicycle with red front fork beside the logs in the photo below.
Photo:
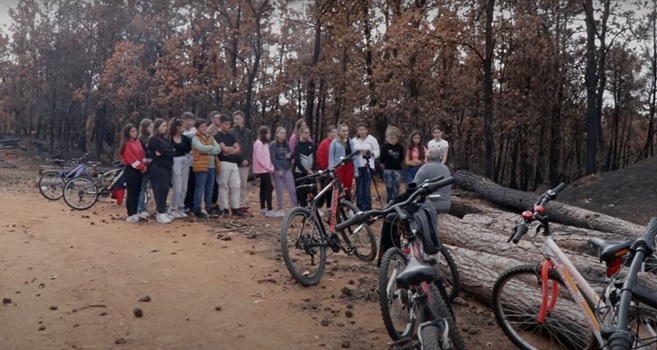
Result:
{"type": "MultiPolygon", "coordinates": [[[[646,242],[653,242],[657,234],[657,220],[652,219],[646,236],[634,243],[591,240],[593,245],[600,248],[597,250],[598,257],[606,264],[606,278],[609,281],[598,295],[552,238],[545,205],[557,198],[564,187],[562,183],[548,190],[532,208],[522,213],[522,222],[515,226],[509,241],[517,244],[528,233],[529,224],[539,222],[536,233],[543,235],[544,262],[539,265],[516,266],[498,277],[492,294],[495,319],[504,334],[520,349],[595,349],[597,345],[603,349],[616,350],[616,347],[611,347],[613,337],[610,335],[616,334],[617,341],[631,341],[625,335],[627,306],[633,296],[636,297],[633,306],[636,310],[639,310],[638,302],[657,307],[656,297],[633,284],[637,269],[651,249],[646,242]],[[631,258],[630,274],[619,288],[618,273],[623,259],[632,254],[635,255],[631,258]],[[533,291],[538,293],[531,295],[533,291]],[[625,314],[620,312],[623,307],[618,307],[619,295],[622,295],[621,299],[626,299],[623,301],[625,314]],[[620,320],[621,325],[612,327],[617,320],[620,320]]],[[[637,326],[649,328],[647,331],[652,337],[657,336],[653,329],[657,324],[654,317],[646,323],[640,318],[635,321],[637,326]]]]}

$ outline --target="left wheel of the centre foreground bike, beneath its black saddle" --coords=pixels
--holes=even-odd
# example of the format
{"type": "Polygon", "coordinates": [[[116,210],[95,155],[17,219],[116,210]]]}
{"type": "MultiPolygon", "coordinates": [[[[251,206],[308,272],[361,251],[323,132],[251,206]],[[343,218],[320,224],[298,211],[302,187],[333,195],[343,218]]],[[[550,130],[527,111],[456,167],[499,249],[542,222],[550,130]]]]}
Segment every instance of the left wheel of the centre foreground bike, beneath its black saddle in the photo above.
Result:
{"type": "Polygon", "coordinates": [[[415,329],[415,310],[410,291],[397,288],[397,275],[406,267],[407,257],[398,248],[390,248],[379,269],[379,306],[383,325],[393,341],[410,337],[415,329]]]}

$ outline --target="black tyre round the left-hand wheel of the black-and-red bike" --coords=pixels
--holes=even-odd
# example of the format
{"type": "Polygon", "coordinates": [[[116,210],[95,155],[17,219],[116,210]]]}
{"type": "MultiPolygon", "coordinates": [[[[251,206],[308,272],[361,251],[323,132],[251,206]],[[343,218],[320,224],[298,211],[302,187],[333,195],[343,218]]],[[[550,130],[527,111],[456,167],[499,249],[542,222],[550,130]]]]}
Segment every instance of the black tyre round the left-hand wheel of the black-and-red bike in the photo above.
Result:
{"type": "MultiPolygon", "coordinates": [[[[317,228],[317,221],[313,219],[312,213],[306,209],[306,208],[301,208],[301,207],[296,207],[292,210],[290,210],[287,215],[285,215],[285,218],[283,219],[283,225],[281,227],[281,251],[283,254],[283,261],[285,261],[285,267],[287,267],[287,270],[290,272],[290,275],[299,282],[301,285],[304,287],[312,286],[317,283],[322,279],[322,276],[324,275],[324,270],[326,268],[326,244],[324,244],[324,240],[318,236],[318,237],[313,237],[315,235],[321,235],[321,231],[318,230],[317,228]],[[305,226],[305,221],[308,219],[311,219],[310,222],[310,229],[311,229],[311,236],[304,236],[303,237],[303,242],[311,242],[318,244],[315,248],[318,249],[319,252],[319,266],[317,268],[317,271],[308,276],[306,275],[306,271],[299,271],[299,269],[296,268],[294,259],[291,256],[292,252],[290,251],[288,247],[288,232],[290,231],[290,226],[292,224],[292,219],[300,215],[303,217],[302,224],[305,226]]],[[[300,232],[299,236],[303,236],[300,232]]],[[[297,239],[295,241],[295,249],[300,249],[298,247],[299,240],[297,239]]],[[[304,250],[306,250],[304,248],[304,250]]],[[[307,252],[304,252],[306,255],[310,255],[311,257],[311,262],[313,261],[313,255],[308,254],[307,252]]]]}

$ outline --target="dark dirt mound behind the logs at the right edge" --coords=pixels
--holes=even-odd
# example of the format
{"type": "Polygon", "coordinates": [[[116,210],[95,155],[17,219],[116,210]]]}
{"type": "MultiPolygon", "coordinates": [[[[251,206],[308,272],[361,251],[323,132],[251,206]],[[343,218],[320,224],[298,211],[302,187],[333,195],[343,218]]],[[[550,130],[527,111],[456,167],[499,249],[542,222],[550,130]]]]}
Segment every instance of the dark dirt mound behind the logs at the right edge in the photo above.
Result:
{"type": "Polygon", "coordinates": [[[579,179],[559,200],[646,225],[657,214],[652,206],[657,200],[657,158],[579,179]]]}

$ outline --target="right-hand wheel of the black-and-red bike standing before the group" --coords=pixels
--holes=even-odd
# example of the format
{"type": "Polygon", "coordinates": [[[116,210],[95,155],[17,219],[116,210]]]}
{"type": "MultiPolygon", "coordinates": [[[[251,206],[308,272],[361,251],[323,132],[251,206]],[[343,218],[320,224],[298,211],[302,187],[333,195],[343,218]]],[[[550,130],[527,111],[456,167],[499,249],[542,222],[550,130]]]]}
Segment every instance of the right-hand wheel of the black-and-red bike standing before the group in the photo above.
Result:
{"type": "MultiPolygon", "coordinates": [[[[357,213],[358,207],[346,199],[340,200],[340,211],[337,222],[347,220],[351,215],[357,213]]],[[[346,228],[340,232],[342,238],[349,248],[353,248],[354,255],[362,261],[374,261],[376,258],[376,237],[368,224],[361,224],[346,228]]]]}

